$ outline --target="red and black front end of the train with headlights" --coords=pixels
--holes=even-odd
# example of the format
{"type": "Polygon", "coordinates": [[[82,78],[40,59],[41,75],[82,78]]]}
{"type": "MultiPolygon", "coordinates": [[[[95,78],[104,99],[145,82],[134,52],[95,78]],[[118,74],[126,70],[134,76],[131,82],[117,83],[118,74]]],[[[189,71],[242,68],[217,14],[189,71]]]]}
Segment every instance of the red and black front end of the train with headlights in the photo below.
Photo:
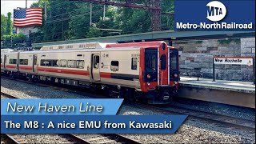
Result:
{"type": "Polygon", "coordinates": [[[150,104],[169,103],[178,94],[178,49],[165,42],[145,46],[140,57],[141,89],[150,104]]]}

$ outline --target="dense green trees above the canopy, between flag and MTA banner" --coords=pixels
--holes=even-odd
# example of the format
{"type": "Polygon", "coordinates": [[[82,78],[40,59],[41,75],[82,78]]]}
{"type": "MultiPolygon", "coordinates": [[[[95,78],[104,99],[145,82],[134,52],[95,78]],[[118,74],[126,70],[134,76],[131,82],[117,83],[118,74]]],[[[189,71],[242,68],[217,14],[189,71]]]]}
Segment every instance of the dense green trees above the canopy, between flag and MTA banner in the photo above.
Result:
{"type": "MultiPolygon", "coordinates": [[[[136,3],[149,5],[146,2],[136,0],[136,3]]],[[[106,6],[106,19],[103,20],[103,5],[93,4],[93,25],[90,26],[90,3],[88,2],[48,0],[46,5],[47,19],[43,19],[43,26],[37,26],[39,30],[37,33],[31,34],[32,42],[53,42],[152,31],[150,10],[106,6]]],[[[161,6],[162,12],[174,13],[174,0],[162,1],[161,6]]],[[[31,7],[45,9],[45,1],[38,0],[31,7]]],[[[173,29],[174,17],[162,15],[162,30],[173,29]]]]}

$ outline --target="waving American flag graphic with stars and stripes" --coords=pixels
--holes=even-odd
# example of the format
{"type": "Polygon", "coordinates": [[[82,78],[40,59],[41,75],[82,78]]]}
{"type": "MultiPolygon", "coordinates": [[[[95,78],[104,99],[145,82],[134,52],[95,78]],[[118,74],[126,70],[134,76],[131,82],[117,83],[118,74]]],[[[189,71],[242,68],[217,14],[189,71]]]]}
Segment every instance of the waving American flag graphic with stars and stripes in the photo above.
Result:
{"type": "Polygon", "coordinates": [[[14,9],[14,26],[42,26],[42,9],[14,9]]]}

